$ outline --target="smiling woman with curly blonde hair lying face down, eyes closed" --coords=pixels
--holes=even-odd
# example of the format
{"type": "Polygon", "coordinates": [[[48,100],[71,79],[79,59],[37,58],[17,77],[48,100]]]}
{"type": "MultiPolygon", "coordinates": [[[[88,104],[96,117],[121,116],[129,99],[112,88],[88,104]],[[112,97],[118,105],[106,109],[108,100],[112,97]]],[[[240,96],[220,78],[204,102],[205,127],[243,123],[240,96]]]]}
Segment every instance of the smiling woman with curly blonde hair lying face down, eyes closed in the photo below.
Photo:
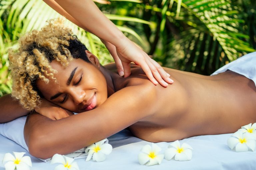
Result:
{"type": "Polygon", "coordinates": [[[103,67],[60,19],[19,43],[19,51],[9,53],[12,95],[39,113],[30,114],[24,128],[33,156],[66,154],[127,127],[143,140],[169,142],[232,133],[256,122],[256,53],[213,76],[164,68],[174,79],[165,88],[151,83],[139,66],[127,78],[103,67]],[[53,115],[63,113],[54,109],[80,114],[59,119],[53,115]]]}

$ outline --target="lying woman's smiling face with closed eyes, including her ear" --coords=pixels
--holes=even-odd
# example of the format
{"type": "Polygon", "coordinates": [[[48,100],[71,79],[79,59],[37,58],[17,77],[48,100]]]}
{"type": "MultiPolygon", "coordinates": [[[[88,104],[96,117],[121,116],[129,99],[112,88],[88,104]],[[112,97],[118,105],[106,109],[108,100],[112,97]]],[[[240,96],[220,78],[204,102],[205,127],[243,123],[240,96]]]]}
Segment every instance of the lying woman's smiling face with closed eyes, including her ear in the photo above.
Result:
{"type": "Polygon", "coordinates": [[[80,58],[69,62],[66,68],[56,59],[51,62],[58,71],[54,74],[57,82],[51,78],[48,84],[37,81],[45,99],[75,113],[92,110],[107,100],[107,83],[99,70],[99,61],[92,53],[86,54],[92,64],[80,58]]]}

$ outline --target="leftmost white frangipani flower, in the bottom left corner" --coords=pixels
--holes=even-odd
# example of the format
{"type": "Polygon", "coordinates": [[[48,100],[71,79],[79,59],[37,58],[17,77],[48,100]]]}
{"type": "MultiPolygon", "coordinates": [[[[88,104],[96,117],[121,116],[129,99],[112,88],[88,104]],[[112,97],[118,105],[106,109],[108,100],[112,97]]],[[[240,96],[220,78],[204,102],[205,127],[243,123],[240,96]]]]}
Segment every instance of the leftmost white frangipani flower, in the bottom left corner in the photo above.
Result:
{"type": "Polygon", "coordinates": [[[29,170],[32,167],[32,162],[29,156],[23,156],[25,152],[13,152],[14,156],[11,153],[6,153],[2,163],[5,163],[5,170],[29,170]]]}

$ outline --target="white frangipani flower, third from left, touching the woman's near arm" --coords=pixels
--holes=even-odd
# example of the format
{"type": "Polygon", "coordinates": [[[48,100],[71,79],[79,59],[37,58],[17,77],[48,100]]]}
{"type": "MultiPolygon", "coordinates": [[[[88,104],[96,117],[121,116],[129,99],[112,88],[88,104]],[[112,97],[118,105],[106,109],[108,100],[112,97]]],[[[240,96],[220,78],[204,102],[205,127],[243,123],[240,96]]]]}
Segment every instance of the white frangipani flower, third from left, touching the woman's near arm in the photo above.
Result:
{"type": "Polygon", "coordinates": [[[104,143],[105,141],[107,141],[107,139],[103,139],[88,146],[85,151],[89,150],[89,153],[85,161],[89,161],[91,158],[97,162],[104,161],[106,155],[110,154],[113,149],[110,144],[104,143]]]}

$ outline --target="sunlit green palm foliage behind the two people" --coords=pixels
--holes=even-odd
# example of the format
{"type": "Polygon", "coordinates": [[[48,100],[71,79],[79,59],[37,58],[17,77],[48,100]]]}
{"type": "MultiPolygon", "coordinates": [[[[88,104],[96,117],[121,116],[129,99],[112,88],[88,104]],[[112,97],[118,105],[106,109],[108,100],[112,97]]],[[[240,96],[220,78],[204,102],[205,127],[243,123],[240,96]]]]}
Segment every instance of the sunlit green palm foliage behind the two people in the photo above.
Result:
{"type": "MultiPolygon", "coordinates": [[[[95,3],[162,66],[209,75],[256,49],[255,0],[95,0],[95,3]]],[[[0,96],[11,92],[8,48],[17,49],[21,34],[39,29],[46,20],[59,16],[42,0],[0,0],[0,96]]],[[[113,61],[97,37],[69,21],[66,24],[102,64],[113,61]]]]}

